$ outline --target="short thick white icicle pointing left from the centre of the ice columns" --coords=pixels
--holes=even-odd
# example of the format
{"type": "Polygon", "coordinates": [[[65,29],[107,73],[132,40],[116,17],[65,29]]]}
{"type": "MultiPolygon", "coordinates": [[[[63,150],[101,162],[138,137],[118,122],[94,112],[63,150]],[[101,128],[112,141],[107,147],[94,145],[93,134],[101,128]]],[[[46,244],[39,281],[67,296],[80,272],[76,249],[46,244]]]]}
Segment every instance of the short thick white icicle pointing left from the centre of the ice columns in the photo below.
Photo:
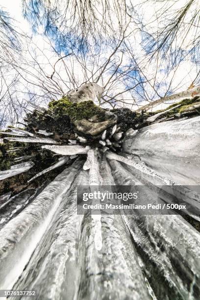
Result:
{"type": "Polygon", "coordinates": [[[62,154],[62,155],[74,155],[74,154],[86,154],[87,151],[90,149],[89,146],[83,147],[79,145],[74,146],[49,146],[45,145],[42,146],[42,149],[47,149],[52,152],[62,154]]]}

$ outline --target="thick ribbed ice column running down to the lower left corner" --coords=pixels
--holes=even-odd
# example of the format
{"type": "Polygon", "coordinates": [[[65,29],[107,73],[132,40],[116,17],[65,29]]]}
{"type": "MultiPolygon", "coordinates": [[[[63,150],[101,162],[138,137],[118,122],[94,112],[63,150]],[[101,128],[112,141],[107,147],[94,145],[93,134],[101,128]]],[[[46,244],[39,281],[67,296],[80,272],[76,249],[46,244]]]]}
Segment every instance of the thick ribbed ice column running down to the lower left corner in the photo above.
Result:
{"type": "Polygon", "coordinates": [[[64,170],[0,230],[1,289],[12,288],[23,272],[81,167],[80,162],[75,162],[64,170]],[[15,257],[18,257],[17,261],[15,257]]]}

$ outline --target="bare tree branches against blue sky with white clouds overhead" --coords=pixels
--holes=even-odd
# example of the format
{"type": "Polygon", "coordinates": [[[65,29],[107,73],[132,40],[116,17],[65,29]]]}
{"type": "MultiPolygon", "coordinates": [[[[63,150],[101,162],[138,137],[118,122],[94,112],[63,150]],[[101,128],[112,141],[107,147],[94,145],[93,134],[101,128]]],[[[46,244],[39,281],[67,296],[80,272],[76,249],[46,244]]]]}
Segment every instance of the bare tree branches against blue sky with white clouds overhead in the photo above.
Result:
{"type": "Polygon", "coordinates": [[[0,126],[86,82],[138,109],[200,82],[198,0],[18,0],[0,9],[0,126]],[[16,20],[14,20],[16,19],[16,20]]]}

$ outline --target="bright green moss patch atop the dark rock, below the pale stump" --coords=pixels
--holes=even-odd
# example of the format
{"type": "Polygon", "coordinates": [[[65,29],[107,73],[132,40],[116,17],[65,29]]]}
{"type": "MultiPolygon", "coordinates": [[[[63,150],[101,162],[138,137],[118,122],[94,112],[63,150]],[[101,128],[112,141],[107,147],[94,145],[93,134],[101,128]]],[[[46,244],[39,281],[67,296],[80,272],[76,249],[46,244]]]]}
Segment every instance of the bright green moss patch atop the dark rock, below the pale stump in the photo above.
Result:
{"type": "Polygon", "coordinates": [[[72,103],[66,97],[58,101],[51,101],[49,108],[56,116],[68,115],[72,122],[81,119],[90,119],[97,116],[99,122],[105,120],[106,111],[95,105],[93,101],[84,101],[79,103],[72,103]]]}

